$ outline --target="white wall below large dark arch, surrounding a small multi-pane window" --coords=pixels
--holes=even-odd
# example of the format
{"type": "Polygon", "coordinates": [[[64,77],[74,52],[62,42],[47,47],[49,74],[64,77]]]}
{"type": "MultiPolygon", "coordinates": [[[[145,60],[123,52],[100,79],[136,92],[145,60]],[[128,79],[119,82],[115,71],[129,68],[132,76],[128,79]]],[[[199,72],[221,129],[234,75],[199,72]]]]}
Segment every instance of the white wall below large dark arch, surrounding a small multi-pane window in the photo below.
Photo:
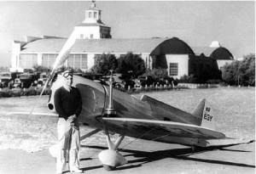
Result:
{"type": "Polygon", "coordinates": [[[188,54],[166,54],[168,65],[168,76],[170,75],[170,63],[177,63],[177,76],[173,78],[179,79],[183,75],[189,74],[189,55],[188,54]]]}

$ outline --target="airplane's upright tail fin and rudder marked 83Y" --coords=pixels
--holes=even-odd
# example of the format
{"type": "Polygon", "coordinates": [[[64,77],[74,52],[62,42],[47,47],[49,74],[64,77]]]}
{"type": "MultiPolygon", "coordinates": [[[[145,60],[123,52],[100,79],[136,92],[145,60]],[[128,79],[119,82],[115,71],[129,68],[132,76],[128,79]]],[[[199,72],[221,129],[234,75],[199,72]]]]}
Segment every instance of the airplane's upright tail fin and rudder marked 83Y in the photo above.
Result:
{"type": "Polygon", "coordinates": [[[201,119],[200,126],[214,130],[213,110],[212,107],[207,104],[207,100],[205,98],[201,100],[191,114],[201,119]]]}

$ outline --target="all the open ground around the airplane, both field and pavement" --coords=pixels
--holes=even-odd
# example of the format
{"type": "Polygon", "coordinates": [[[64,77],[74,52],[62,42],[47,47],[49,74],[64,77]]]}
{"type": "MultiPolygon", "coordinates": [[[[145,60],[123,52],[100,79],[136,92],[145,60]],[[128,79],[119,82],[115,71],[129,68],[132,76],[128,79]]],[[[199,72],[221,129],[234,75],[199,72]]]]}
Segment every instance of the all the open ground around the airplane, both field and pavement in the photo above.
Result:
{"type": "MultiPolygon", "coordinates": [[[[207,98],[217,108],[219,131],[234,138],[255,139],[254,90],[220,88],[148,95],[186,111],[207,98]]],[[[9,115],[30,111],[36,101],[37,97],[0,98],[0,174],[55,173],[55,160],[48,152],[49,145],[56,142],[55,118],[9,115]]],[[[46,102],[47,97],[41,98],[36,110],[47,111],[46,102]]],[[[81,133],[88,131],[88,127],[81,128],[81,133]]],[[[120,147],[132,140],[125,138],[120,147]]],[[[85,173],[255,173],[255,143],[193,151],[177,144],[137,140],[121,149],[128,164],[116,171],[102,168],[97,156],[102,149],[107,149],[107,144],[101,132],[82,142],[80,167],[85,173]]],[[[70,173],[68,168],[65,173],[70,173]]]]}

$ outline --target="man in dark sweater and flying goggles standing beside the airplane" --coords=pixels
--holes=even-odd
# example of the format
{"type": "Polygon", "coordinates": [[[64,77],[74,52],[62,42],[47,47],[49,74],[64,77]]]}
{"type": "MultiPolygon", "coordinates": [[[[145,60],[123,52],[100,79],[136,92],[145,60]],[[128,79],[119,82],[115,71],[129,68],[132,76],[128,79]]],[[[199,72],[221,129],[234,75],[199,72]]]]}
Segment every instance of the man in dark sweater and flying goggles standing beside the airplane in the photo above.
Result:
{"type": "Polygon", "coordinates": [[[72,87],[73,73],[66,70],[62,73],[63,86],[55,91],[55,110],[59,114],[57,126],[58,152],[56,172],[65,170],[66,161],[69,161],[71,172],[81,173],[79,170],[79,114],[82,109],[82,99],[79,89],[72,87]],[[68,158],[68,159],[67,159],[68,158]]]}

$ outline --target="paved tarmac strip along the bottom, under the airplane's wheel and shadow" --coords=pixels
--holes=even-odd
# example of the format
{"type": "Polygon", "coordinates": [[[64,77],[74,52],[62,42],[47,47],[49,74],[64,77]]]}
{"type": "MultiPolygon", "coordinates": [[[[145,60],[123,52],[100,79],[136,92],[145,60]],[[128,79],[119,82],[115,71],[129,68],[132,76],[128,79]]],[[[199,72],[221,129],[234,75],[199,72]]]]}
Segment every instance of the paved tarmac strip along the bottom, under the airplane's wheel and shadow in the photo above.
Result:
{"type": "MultiPolygon", "coordinates": [[[[97,157],[102,149],[106,147],[82,146],[80,168],[84,173],[255,173],[255,143],[192,151],[186,146],[139,140],[120,152],[128,164],[119,166],[116,171],[103,169],[97,157]]],[[[55,160],[47,149],[34,153],[3,149],[0,150],[0,173],[52,174],[55,173],[55,160]]],[[[68,168],[64,173],[70,173],[68,168]]]]}

